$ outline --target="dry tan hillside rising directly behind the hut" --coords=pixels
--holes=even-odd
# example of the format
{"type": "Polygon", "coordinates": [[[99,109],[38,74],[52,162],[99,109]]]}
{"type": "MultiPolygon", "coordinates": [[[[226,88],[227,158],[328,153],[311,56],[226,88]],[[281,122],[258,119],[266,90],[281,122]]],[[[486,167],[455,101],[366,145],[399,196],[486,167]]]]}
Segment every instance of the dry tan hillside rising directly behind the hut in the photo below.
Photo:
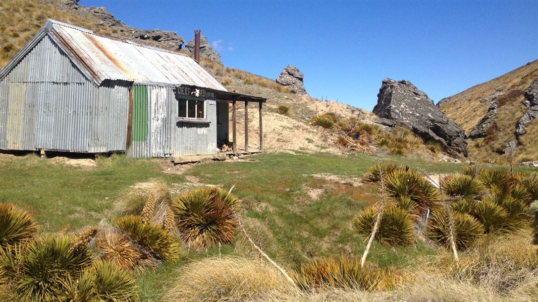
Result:
{"type": "MultiPolygon", "coordinates": [[[[55,19],[76,26],[88,28],[96,33],[114,36],[121,39],[134,40],[151,46],[165,48],[171,51],[180,51],[190,55],[188,49],[183,47],[185,39],[175,32],[161,30],[143,30],[126,25],[115,17],[106,8],[86,8],[78,4],[77,0],[8,0],[0,3],[0,17],[3,18],[0,25],[0,67],[3,67],[13,56],[36,34],[45,24],[47,19],[55,19]]],[[[194,29],[194,28],[193,28],[194,29]]],[[[211,48],[209,44],[207,48],[211,48]]],[[[264,111],[264,142],[266,151],[297,150],[303,152],[330,152],[346,153],[356,152],[357,148],[342,148],[337,143],[338,136],[342,135],[342,129],[324,129],[310,123],[313,117],[325,113],[334,114],[342,122],[352,118],[352,128],[359,124],[372,124],[376,122],[376,116],[364,110],[342,104],[335,101],[321,101],[310,97],[305,93],[295,93],[289,87],[252,73],[223,66],[220,61],[212,61],[211,57],[201,54],[201,64],[204,69],[219,80],[228,90],[240,93],[258,95],[267,98],[264,111]],[[278,114],[279,106],[289,107],[289,113],[278,114]],[[355,150],[353,150],[355,149],[355,150]]],[[[280,68],[280,67],[275,67],[280,68]]],[[[231,120],[231,119],[230,119],[231,120]]],[[[250,120],[250,146],[258,147],[259,135],[258,112],[249,112],[250,120]]],[[[238,145],[243,148],[244,144],[244,109],[238,108],[238,145]]],[[[231,128],[231,127],[230,127],[231,128]]],[[[386,129],[378,124],[376,129],[386,129]]],[[[377,131],[377,130],[376,130],[377,131]]],[[[383,133],[385,133],[384,131],[383,133]]],[[[364,135],[363,135],[364,136],[364,135]]],[[[364,138],[370,137],[370,134],[364,138]]],[[[357,137],[355,137],[357,138],[357,137]]],[[[230,137],[231,139],[231,137],[230,137]]],[[[446,158],[441,154],[435,154],[440,150],[428,151],[422,141],[417,146],[410,148],[406,143],[405,153],[420,151],[419,156],[431,153],[428,157],[446,158]],[[407,150],[409,149],[409,150],[407,150]],[[438,157],[438,155],[440,157],[438,157]]],[[[381,151],[372,139],[363,139],[362,152],[389,153],[387,148],[381,151]],[[364,146],[364,145],[372,145],[364,146]]],[[[349,146],[348,146],[349,147],[349,146]]],[[[390,152],[393,153],[393,152],[390,152]]]]}

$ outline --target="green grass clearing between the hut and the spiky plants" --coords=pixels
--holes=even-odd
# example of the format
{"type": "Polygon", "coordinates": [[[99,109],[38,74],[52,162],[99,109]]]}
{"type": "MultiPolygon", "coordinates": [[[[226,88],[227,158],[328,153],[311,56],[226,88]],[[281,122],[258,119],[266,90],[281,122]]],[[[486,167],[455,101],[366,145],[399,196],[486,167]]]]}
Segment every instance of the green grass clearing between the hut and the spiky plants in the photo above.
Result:
{"type": "MultiPolygon", "coordinates": [[[[117,215],[115,201],[125,188],[152,178],[169,185],[197,179],[230,188],[242,201],[247,230],[264,251],[289,269],[321,256],[360,255],[365,235],[352,227],[357,212],[376,201],[376,188],[357,185],[367,168],[382,161],[418,167],[428,173],[461,172],[464,164],[433,163],[393,156],[366,154],[278,153],[261,154],[244,161],[212,162],[193,166],[180,174],[164,173],[160,160],[134,160],[124,156],[98,158],[95,167],[73,167],[35,155],[0,157],[0,202],[12,202],[36,215],[41,232],[75,231],[117,215]],[[354,185],[353,182],[355,181],[354,185]],[[311,191],[318,196],[309,195],[311,191]]],[[[520,168],[517,168],[520,170],[520,168]]],[[[532,170],[525,168],[524,170],[532,170]]],[[[536,170],[535,170],[536,171],[536,170]]],[[[370,260],[380,266],[406,268],[417,256],[434,255],[436,249],[417,241],[409,247],[374,244],[370,260]]],[[[223,246],[224,255],[255,256],[242,235],[223,246]]],[[[180,261],[157,270],[138,273],[139,297],[158,301],[178,274],[178,268],[208,256],[185,252],[180,261]]]]}

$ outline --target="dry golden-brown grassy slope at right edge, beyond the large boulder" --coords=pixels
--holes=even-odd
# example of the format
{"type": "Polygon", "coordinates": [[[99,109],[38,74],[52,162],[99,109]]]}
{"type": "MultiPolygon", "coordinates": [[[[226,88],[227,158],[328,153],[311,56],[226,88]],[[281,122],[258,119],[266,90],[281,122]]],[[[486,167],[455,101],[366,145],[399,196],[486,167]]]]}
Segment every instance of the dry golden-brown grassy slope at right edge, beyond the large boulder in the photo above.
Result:
{"type": "MultiPolygon", "coordinates": [[[[465,129],[469,134],[476,124],[486,114],[489,102],[480,103],[480,100],[497,92],[502,88],[504,93],[512,93],[506,104],[499,107],[497,114],[497,131],[486,138],[469,141],[471,159],[480,161],[506,161],[506,155],[499,154],[509,141],[516,139],[514,131],[519,118],[527,108],[522,104],[525,100],[525,90],[530,83],[538,78],[538,60],[527,63],[522,67],[506,73],[488,82],[471,87],[449,98],[441,105],[441,110],[465,129]]],[[[537,160],[538,151],[534,145],[538,142],[538,120],[527,125],[526,135],[521,136],[522,146],[518,151],[516,160],[537,160]]]]}

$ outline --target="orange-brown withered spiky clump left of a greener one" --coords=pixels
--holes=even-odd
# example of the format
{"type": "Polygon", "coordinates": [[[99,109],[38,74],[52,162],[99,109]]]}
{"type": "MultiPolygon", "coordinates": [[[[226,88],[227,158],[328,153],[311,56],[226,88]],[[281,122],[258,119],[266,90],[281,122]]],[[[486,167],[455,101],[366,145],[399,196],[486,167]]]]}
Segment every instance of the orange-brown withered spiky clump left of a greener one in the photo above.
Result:
{"type": "Polygon", "coordinates": [[[129,238],[115,231],[104,231],[96,241],[104,260],[116,263],[124,269],[132,269],[142,259],[143,254],[134,247],[129,238]]]}

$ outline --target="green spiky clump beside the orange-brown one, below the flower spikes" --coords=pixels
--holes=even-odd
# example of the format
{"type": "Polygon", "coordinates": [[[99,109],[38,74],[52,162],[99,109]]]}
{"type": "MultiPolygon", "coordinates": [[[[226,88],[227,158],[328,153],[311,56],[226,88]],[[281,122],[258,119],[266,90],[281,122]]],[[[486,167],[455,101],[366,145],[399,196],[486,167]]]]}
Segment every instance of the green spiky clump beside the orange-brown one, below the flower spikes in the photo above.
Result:
{"type": "Polygon", "coordinates": [[[179,242],[162,226],[152,222],[144,224],[140,216],[134,215],[118,218],[116,225],[157,259],[174,261],[179,258],[179,242]]]}

